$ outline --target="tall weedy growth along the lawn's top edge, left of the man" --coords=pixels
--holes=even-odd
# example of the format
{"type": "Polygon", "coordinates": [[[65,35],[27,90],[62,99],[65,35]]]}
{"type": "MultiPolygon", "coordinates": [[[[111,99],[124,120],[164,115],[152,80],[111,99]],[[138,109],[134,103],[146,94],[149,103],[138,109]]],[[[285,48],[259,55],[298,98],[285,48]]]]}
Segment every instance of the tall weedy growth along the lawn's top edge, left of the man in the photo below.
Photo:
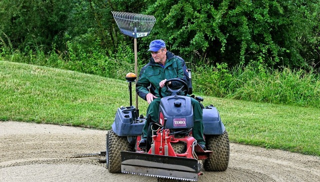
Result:
{"type": "Polygon", "coordinates": [[[134,54],[126,44],[119,44],[118,53],[102,49],[96,40],[92,47],[83,47],[74,42],[66,42],[66,51],[60,52],[52,45],[51,50],[44,52],[41,46],[28,43],[24,51],[14,50],[12,47],[0,44],[0,48],[10,50],[0,52],[0,57],[12,62],[20,62],[83,73],[95,74],[105,77],[124,79],[127,72],[134,72],[134,54]]]}

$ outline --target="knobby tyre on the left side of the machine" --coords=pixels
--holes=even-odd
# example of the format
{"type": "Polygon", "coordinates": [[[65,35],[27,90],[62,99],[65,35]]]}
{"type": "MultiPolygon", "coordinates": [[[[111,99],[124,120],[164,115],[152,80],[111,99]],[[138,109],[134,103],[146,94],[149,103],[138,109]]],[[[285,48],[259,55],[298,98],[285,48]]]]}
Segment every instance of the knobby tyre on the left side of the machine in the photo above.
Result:
{"type": "Polygon", "coordinates": [[[112,129],[106,134],[106,168],[111,173],[121,172],[121,151],[128,151],[129,142],[125,136],[116,135],[112,129]]]}

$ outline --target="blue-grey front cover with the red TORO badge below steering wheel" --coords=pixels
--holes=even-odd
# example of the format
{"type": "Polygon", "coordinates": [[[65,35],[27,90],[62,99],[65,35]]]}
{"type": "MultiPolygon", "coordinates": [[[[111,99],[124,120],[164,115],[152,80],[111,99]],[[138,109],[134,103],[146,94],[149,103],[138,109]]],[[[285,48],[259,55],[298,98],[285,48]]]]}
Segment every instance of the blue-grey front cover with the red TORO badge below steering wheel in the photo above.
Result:
{"type": "Polygon", "coordinates": [[[159,123],[167,118],[165,128],[193,127],[193,110],[189,96],[172,95],[161,98],[159,105],[159,123]]]}

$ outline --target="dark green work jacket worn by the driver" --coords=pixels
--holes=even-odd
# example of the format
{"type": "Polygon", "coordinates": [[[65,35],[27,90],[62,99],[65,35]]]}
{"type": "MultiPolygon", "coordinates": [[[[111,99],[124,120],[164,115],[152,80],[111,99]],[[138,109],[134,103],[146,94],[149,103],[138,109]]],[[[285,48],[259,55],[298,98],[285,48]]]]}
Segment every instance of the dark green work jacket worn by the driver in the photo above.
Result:
{"type": "MultiPolygon", "coordinates": [[[[155,96],[159,96],[159,82],[163,79],[180,78],[186,83],[190,82],[188,76],[185,75],[186,70],[184,60],[174,55],[173,53],[166,52],[166,61],[164,67],[155,63],[151,57],[149,62],[144,65],[140,71],[138,81],[135,85],[137,94],[146,100],[146,94],[151,92],[155,96]]],[[[172,86],[180,85],[179,82],[172,82],[172,86]]],[[[168,96],[169,92],[166,88],[161,88],[162,96],[168,96]]]]}

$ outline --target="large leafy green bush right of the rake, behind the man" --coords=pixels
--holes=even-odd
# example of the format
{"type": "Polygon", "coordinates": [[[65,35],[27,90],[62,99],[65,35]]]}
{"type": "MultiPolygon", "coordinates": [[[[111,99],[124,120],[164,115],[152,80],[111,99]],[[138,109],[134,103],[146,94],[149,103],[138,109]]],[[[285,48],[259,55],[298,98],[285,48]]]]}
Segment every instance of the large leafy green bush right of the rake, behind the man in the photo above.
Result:
{"type": "Polygon", "coordinates": [[[312,66],[320,61],[317,0],[147,0],[157,23],[153,38],[172,50],[194,50],[209,63],[258,61],[268,66],[312,66]],[[303,27],[303,28],[301,28],[303,27]]]}

